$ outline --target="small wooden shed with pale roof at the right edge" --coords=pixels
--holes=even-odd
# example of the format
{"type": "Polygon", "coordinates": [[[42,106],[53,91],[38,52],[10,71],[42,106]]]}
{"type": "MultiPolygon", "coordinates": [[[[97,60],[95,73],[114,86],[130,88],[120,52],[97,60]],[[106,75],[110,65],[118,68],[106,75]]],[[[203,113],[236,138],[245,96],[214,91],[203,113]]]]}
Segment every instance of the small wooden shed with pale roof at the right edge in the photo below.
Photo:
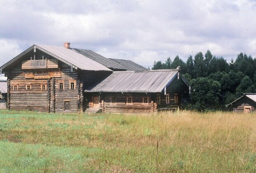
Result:
{"type": "Polygon", "coordinates": [[[226,105],[226,107],[239,113],[256,112],[256,93],[244,93],[243,96],[226,105]]]}

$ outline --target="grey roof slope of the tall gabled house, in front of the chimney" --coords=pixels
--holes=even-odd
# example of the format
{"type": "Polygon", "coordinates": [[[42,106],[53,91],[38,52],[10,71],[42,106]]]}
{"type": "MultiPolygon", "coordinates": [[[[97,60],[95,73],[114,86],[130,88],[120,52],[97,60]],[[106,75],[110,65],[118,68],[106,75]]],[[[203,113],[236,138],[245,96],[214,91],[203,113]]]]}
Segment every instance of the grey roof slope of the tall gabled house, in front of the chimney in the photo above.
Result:
{"type": "MultiPolygon", "coordinates": [[[[81,70],[93,70],[93,71],[111,71],[109,68],[106,68],[104,65],[97,63],[90,58],[83,56],[72,49],[66,49],[60,46],[48,46],[43,44],[36,44],[36,47],[39,49],[44,49],[45,51],[49,52],[49,54],[53,54],[60,59],[75,65],[76,67],[80,68],[81,70]]],[[[44,51],[42,50],[42,51],[44,51]]]]}

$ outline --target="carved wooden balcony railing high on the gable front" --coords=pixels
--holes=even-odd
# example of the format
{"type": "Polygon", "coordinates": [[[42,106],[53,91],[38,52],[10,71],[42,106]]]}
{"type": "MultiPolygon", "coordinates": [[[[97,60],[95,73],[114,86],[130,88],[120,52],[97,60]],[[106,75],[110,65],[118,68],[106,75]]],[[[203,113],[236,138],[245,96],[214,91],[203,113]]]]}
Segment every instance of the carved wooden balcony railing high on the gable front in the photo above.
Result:
{"type": "Polygon", "coordinates": [[[22,69],[58,68],[57,59],[41,59],[22,61],[22,69]]]}

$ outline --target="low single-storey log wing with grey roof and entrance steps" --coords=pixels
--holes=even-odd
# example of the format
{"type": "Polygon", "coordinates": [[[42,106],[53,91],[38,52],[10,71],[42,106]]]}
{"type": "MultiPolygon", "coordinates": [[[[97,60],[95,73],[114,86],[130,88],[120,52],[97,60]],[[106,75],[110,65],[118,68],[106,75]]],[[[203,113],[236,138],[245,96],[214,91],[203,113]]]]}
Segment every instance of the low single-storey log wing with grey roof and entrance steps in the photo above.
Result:
{"type": "Polygon", "coordinates": [[[190,90],[179,68],[113,72],[99,84],[85,89],[89,101],[86,112],[176,110],[186,101],[190,90]]]}

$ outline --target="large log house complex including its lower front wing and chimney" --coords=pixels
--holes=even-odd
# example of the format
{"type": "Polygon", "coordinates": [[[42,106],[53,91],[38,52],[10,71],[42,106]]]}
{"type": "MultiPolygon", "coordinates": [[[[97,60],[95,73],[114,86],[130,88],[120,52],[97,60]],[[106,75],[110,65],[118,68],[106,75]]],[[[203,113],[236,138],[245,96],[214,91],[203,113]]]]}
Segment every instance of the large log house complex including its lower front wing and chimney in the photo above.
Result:
{"type": "Polygon", "coordinates": [[[35,44],[0,67],[7,109],[42,112],[153,112],[190,93],[179,69],[147,70],[93,51],[35,44]]]}

